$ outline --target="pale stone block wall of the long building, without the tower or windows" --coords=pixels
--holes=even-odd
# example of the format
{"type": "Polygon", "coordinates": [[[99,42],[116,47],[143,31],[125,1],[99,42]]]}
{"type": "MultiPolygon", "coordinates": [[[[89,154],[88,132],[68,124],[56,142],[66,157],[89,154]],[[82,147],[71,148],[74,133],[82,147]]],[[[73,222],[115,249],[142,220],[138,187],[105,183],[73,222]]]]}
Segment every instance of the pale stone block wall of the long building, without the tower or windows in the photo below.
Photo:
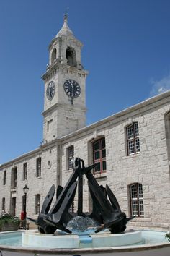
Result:
{"type": "MultiPolygon", "coordinates": [[[[52,184],[63,187],[71,176],[67,169],[67,149],[74,146],[74,156],[84,159],[85,165],[93,163],[92,143],[105,137],[107,171],[96,174],[99,184],[112,189],[120,208],[130,216],[129,185],[143,185],[144,216],[128,224],[140,229],[170,228],[170,182],[169,182],[169,118],[170,93],[159,95],[137,106],[109,116],[89,127],[47,142],[37,150],[22,155],[0,166],[0,203],[6,198],[6,212],[10,210],[11,195],[17,197],[16,215],[22,208],[22,188],[30,188],[27,195],[27,215],[35,216],[35,195],[41,195],[41,205],[52,184]],[[140,153],[128,155],[126,127],[138,122],[140,153]],[[167,124],[168,122],[168,124],[167,124]],[[36,159],[42,158],[42,175],[36,178],[36,159]],[[28,163],[27,181],[22,180],[23,164],[28,163]],[[17,189],[11,190],[11,172],[17,167],[17,189]],[[6,185],[3,185],[6,170],[6,185]],[[13,193],[13,194],[11,194],[13,193]]],[[[89,210],[87,179],[84,176],[84,211],[89,210]]],[[[77,201],[77,195],[75,198],[77,201]]],[[[77,202],[76,202],[77,207],[77,202]]],[[[1,210],[1,205],[0,205],[1,210]]]]}

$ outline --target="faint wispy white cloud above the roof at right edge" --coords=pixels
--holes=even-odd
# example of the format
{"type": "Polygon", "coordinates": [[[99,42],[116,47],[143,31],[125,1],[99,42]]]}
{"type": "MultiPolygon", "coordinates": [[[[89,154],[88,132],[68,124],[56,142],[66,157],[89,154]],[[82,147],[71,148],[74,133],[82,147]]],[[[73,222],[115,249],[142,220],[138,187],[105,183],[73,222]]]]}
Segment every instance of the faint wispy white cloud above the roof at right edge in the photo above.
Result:
{"type": "Polygon", "coordinates": [[[159,81],[151,80],[152,88],[150,92],[150,97],[158,95],[160,93],[165,93],[167,90],[170,90],[170,74],[166,77],[163,77],[159,81]]]}

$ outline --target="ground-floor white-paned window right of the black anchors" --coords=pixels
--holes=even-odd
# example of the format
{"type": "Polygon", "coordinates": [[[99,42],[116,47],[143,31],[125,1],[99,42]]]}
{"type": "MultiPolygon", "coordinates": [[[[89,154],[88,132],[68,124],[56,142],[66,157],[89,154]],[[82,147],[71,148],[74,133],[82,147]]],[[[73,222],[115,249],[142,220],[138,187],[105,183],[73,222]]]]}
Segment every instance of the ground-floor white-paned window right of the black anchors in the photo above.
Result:
{"type": "Polygon", "coordinates": [[[144,216],[143,188],[142,184],[140,183],[134,183],[130,185],[130,211],[131,216],[144,216]]]}

